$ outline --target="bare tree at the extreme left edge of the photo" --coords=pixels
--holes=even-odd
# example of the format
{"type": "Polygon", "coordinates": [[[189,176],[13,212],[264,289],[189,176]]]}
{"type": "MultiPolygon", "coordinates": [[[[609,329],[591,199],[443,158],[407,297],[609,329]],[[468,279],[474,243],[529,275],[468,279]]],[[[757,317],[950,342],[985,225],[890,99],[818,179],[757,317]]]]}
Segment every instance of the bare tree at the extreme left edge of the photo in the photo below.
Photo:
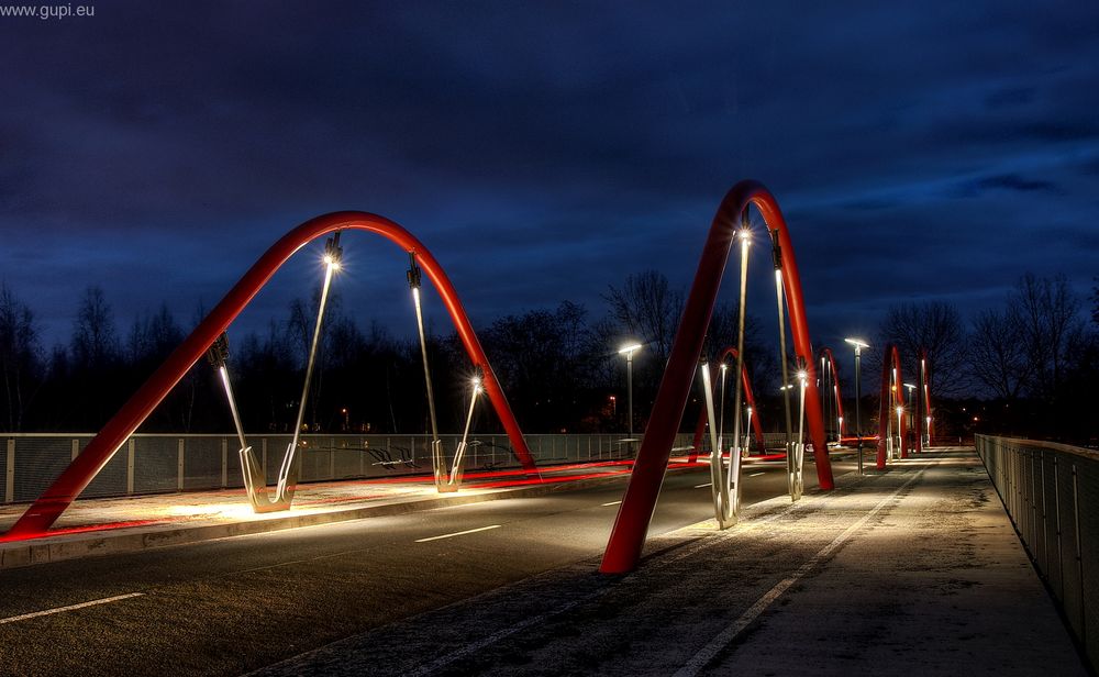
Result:
{"type": "Polygon", "coordinates": [[[35,381],[41,382],[38,332],[31,309],[0,284],[0,378],[3,380],[4,424],[22,429],[35,381]]]}

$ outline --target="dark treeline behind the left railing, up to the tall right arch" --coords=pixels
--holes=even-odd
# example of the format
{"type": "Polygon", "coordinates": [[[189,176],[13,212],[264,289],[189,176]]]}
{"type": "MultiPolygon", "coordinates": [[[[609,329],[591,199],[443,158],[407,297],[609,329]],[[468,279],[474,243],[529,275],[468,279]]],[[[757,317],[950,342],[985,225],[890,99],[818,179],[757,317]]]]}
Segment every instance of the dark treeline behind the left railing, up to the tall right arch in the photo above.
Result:
{"type": "MultiPolygon", "coordinates": [[[[232,334],[229,368],[245,428],[288,432],[302,395],[319,303],[295,299],[264,331],[232,334]]],[[[555,308],[500,318],[478,336],[511,407],[531,432],[621,432],[626,429],[628,340],[645,347],[634,362],[635,428],[643,429],[682,311],[682,292],[655,271],[606,295],[609,313],[555,308]]],[[[198,322],[169,310],[142,313],[120,329],[99,287],[77,303],[67,344],[44,348],[30,304],[0,286],[0,430],[87,432],[102,424],[179,345],[198,322]]],[[[715,328],[733,341],[735,311],[722,307],[715,328]],[[724,329],[721,329],[724,328],[724,329]]],[[[359,326],[338,295],[329,300],[306,425],[323,432],[408,433],[429,429],[423,366],[414,337],[359,326]]],[[[441,432],[459,432],[475,376],[455,333],[428,332],[441,432]]],[[[766,365],[766,360],[759,360],[766,365]]],[[[762,377],[762,376],[761,376],[762,377]]],[[[485,401],[478,430],[499,430],[485,401]]],[[[142,426],[143,432],[225,432],[232,426],[221,384],[200,360],[142,426]]]]}

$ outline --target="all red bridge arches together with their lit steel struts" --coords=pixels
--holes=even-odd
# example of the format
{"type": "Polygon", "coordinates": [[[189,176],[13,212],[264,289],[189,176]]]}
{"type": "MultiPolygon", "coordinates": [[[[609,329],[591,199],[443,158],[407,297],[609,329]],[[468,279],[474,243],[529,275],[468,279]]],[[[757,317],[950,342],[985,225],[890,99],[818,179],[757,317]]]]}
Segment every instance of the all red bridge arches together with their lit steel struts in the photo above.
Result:
{"type": "MultiPolygon", "coordinates": [[[[246,495],[256,511],[286,510],[291,506],[301,464],[302,414],[309,395],[317,345],[323,331],[324,310],[333,276],[341,266],[341,233],[364,231],[381,235],[409,255],[409,285],[417,310],[420,330],[420,345],[424,359],[424,385],[429,403],[432,436],[432,466],[434,480],[440,491],[457,490],[462,481],[463,456],[474,408],[479,396],[487,396],[509,437],[512,453],[522,466],[529,480],[541,481],[519,422],[512,413],[508,398],[500,387],[492,366],[477,338],[473,324],[458,299],[457,291],[432,253],[409,231],[399,224],[366,212],[334,212],[312,219],[293,229],[276,242],[245,273],[241,280],[225,295],[224,299],[203,319],[191,334],[169,355],[165,363],[107,422],[48,488],[26,509],[11,529],[0,536],[0,541],[37,539],[51,533],[51,525],[88,487],[92,479],[124,445],[142,422],[187,371],[206,356],[218,369],[223,384],[226,401],[233,414],[240,441],[240,458],[246,495]],[[306,382],[299,401],[298,425],[293,439],[284,454],[278,481],[268,487],[266,477],[256,463],[252,447],[240,417],[233,395],[227,345],[224,332],[267,284],[278,268],[308,243],[326,237],[325,273],[314,325],[313,343],[306,369],[306,382]],[[469,412],[466,417],[465,433],[451,455],[444,453],[435,423],[434,395],[428,366],[428,348],[423,337],[423,322],[420,308],[421,269],[439,292],[443,304],[457,331],[457,335],[478,374],[471,387],[469,412]]],[[[722,199],[710,225],[695,280],[684,309],[682,318],[671,346],[670,357],[657,389],[647,429],[630,481],[626,486],[618,515],[611,531],[600,569],[604,573],[622,573],[636,567],[644,545],[650,521],[656,508],[665,470],[673,452],[674,440],[679,431],[688,398],[695,384],[701,384],[702,400],[706,403],[698,426],[689,460],[695,462],[701,448],[702,437],[709,431],[710,467],[714,514],[719,526],[726,528],[737,520],[742,479],[740,459],[753,445],[748,430],[754,430],[754,443],[762,447],[764,434],[755,408],[748,373],[745,367],[744,308],[747,284],[748,251],[762,241],[769,245],[775,276],[776,309],[778,315],[780,354],[784,356],[782,384],[785,409],[785,445],[782,454],[787,459],[790,495],[797,500],[801,492],[802,460],[811,450],[821,490],[834,487],[832,466],[829,459],[828,441],[859,445],[864,440],[861,422],[856,422],[856,435],[852,436],[851,421],[843,414],[840,384],[836,377],[835,358],[832,351],[824,348],[813,353],[809,323],[806,315],[801,278],[795,258],[793,242],[786,220],[777,201],[761,184],[742,181],[734,186],[722,199]],[[762,220],[762,226],[753,225],[750,209],[754,209],[762,220]],[[720,385],[715,387],[709,358],[703,354],[718,291],[721,287],[731,254],[739,254],[740,262],[740,328],[739,343],[729,346],[717,357],[720,385]],[[790,345],[787,346],[787,331],[790,345]],[[732,364],[726,360],[732,360],[732,364]],[[732,366],[733,378],[725,371],[732,366]],[[730,386],[730,381],[732,385],[730,386]],[[726,439],[724,401],[726,387],[733,390],[733,417],[726,439]],[[718,390],[718,395],[715,395],[718,390]],[[715,400],[720,403],[715,404],[715,400]],[[747,404],[745,408],[744,404],[747,404]],[[742,420],[747,411],[747,420],[742,420]],[[717,414],[715,414],[717,412],[717,414]],[[754,412],[754,415],[753,415],[754,412]],[[729,443],[731,442],[731,444],[729,443]]],[[[865,344],[864,344],[865,345],[865,344]]],[[[885,347],[882,359],[880,407],[878,412],[879,434],[866,436],[877,445],[877,466],[885,467],[893,457],[906,457],[910,451],[906,417],[906,393],[909,390],[911,419],[914,423],[914,451],[919,452],[930,440],[931,402],[928,388],[926,355],[920,355],[917,371],[918,384],[904,384],[901,373],[900,354],[896,346],[885,347]],[[919,392],[911,395],[912,390],[919,392]]],[[[856,348],[857,359],[857,348],[856,348]]]]}

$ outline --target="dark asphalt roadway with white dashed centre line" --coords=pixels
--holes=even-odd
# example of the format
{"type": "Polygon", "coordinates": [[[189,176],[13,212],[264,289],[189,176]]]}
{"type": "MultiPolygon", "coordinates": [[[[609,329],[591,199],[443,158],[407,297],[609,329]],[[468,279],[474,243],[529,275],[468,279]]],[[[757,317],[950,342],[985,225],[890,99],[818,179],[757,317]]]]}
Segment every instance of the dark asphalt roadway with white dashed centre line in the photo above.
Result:
{"type": "MultiPolygon", "coordinates": [[[[786,492],[785,462],[744,477],[746,504],[786,492]]],[[[708,482],[669,474],[651,535],[712,517],[708,482]]],[[[2,571],[0,674],[247,673],[597,556],[623,487],[2,571]]]]}

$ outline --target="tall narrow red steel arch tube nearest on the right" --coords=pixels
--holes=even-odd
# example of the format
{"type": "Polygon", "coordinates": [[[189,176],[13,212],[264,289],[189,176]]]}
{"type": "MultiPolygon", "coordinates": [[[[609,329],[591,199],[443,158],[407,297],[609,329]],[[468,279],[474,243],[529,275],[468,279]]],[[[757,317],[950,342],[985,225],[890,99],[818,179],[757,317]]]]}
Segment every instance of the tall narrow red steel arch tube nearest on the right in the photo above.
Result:
{"type": "MultiPolygon", "coordinates": [[[[687,304],[679,321],[668,366],[660,379],[656,401],[650,415],[645,437],[637,451],[637,460],[630,484],[626,485],[618,518],[611,531],[603,561],[599,570],[604,574],[622,574],[637,566],[648,523],[656,510],[660,485],[667,469],[671,445],[675,442],[679,422],[682,420],[687,398],[690,395],[698,358],[702,353],[702,342],[713,314],[713,304],[721,287],[721,276],[725,269],[741,213],[754,204],[769,229],[778,230],[781,247],[782,284],[786,291],[790,328],[793,334],[795,353],[801,357],[809,373],[806,389],[806,410],[809,418],[809,433],[813,441],[817,460],[817,478],[821,489],[832,489],[832,465],[824,445],[824,422],[821,418],[820,393],[813,367],[813,349],[809,340],[809,324],[806,318],[804,299],[801,293],[801,278],[793,257],[793,244],[786,226],[786,220],[778,202],[757,181],[741,181],[725,195],[713,217],[710,232],[702,247],[702,257],[695,274],[687,304]]],[[[757,244],[767,243],[764,233],[756,233],[757,244]]]]}

